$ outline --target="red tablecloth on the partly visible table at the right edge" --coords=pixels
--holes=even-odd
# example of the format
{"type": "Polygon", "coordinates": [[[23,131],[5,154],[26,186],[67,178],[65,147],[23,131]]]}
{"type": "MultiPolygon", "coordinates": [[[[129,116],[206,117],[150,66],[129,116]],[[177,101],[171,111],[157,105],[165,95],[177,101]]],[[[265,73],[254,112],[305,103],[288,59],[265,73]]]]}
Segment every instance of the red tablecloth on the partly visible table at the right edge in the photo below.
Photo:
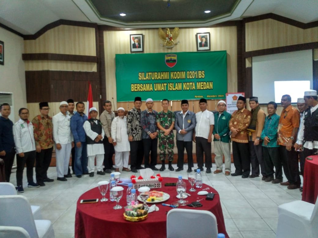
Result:
{"type": "Polygon", "coordinates": [[[318,155],[308,156],[305,160],[302,201],[315,204],[318,195],[318,155]]]}

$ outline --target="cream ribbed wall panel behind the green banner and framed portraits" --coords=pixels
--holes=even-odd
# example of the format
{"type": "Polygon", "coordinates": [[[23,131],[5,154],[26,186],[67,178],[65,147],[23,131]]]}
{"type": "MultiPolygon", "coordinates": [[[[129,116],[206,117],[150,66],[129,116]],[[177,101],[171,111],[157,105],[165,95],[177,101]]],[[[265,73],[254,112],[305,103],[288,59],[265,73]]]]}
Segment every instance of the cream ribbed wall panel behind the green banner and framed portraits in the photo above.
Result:
{"type": "MultiPolygon", "coordinates": [[[[130,34],[144,35],[144,53],[169,53],[197,51],[196,33],[211,33],[211,51],[226,50],[228,66],[228,92],[237,91],[237,39],[236,26],[212,28],[180,29],[176,41],[180,43],[172,49],[160,46],[163,41],[158,36],[158,29],[110,30],[104,31],[104,55],[106,69],[107,99],[114,98],[116,104],[115,54],[130,54],[130,34]],[[120,44],[118,44],[120,39],[120,44]]],[[[133,100],[133,99],[132,99],[133,100]]],[[[124,103],[125,105],[125,103],[124,103]]],[[[127,105],[127,104],[126,104],[127,105]]],[[[117,108],[117,105],[114,105],[117,108]]],[[[124,107],[127,110],[127,106],[124,107]]]]}

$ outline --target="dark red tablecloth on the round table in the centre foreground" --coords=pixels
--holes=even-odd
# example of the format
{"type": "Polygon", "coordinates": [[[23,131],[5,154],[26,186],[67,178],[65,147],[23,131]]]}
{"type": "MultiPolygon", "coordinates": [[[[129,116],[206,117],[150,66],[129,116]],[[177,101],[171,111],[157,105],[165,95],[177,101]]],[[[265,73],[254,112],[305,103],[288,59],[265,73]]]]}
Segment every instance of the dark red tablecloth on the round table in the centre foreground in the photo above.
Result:
{"type": "MultiPolygon", "coordinates": [[[[187,180],[188,190],[190,189],[190,184],[187,180]]],[[[162,188],[151,189],[166,192],[170,195],[170,198],[164,203],[171,204],[178,201],[176,198],[176,187],[165,187],[164,183],[177,182],[177,178],[163,178],[162,188]]],[[[123,196],[119,204],[124,207],[126,206],[126,190],[124,187],[123,196]]],[[[179,208],[188,209],[201,209],[211,211],[217,218],[218,222],[218,233],[224,233],[228,237],[225,229],[225,223],[221,208],[220,196],[218,192],[212,187],[203,184],[202,188],[197,189],[196,192],[189,192],[189,196],[186,200],[189,202],[194,202],[198,198],[202,203],[201,208],[191,208],[189,206],[183,206],[179,208]],[[205,196],[197,195],[198,191],[204,188],[210,188],[208,191],[215,193],[214,199],[212,201],[205,200],[205,196]]],[[[109,198],[109,191],[107,191],[107,198],[109,198]]],[[[101,199],[101,195],[98,187],[93,188],[86,193],[82,194],[77,201],[76,215],[75,215],[75,237],[87,237],[87,238],[98,238],[98,237],[166,237],[166,221],[167,212],[173,208],[162,206],[161,203],[156,203],[159,207],[159,211],[149,213],[148,218],[144,221],[131,222],[123,219],[124,209],[114,210],[116,202],[98,202],[98,203],[88,203],[80,204],[81,199],[101,199]]],[[[152,204],[149,204],[152,205],[152,204]]],[[[195,222],[195,221],[193,221],[195,222]]],[[[198,224],[198,229],[204,229],[198,224]]],[[[195,234],[195,231],[193,231],[195,234]]]]}

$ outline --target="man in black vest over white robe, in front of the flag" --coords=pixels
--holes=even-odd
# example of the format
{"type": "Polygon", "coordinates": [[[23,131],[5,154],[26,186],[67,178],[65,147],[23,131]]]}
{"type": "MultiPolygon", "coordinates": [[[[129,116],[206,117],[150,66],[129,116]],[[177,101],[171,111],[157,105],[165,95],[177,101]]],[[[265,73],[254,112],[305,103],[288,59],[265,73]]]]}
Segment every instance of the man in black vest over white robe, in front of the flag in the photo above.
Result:
{"type": "Polygon", "coordinates": [[[100,120],[96,118],[98,115],[97,109],[90,108],[89,115],[91,116],[91,118],[84,122],[83,127],[86,133],[88,173],[90,177],[93,177],[95,170],[95,157],[97,174],[105,175],[105,172],[103,171],[103,161],[105,153],[103,138],[105,136],[105,132],[100,120]]]}

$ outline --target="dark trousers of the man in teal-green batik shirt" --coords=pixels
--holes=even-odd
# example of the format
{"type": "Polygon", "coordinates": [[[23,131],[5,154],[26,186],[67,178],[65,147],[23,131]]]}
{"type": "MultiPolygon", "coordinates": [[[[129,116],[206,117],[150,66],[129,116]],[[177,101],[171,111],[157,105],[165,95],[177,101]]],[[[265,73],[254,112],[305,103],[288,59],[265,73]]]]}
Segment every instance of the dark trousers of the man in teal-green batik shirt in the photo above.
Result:
{"type": "Polygon", "coordinates": [[[275,174],[275,178],[282,179],[283,168],[279,158],[279,147],[263,147],[263,159],[266,175],[273,176],[275,174]]]}

